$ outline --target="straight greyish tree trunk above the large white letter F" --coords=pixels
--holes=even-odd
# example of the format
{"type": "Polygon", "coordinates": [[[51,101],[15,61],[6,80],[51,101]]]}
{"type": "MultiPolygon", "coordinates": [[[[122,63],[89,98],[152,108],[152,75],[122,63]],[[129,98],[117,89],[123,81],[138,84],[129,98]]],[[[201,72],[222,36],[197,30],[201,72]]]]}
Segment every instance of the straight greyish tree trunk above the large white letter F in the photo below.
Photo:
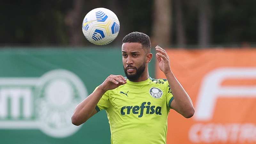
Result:
{"type": "Polygon", "coordinates": [[[211,7],[209,0],[199,0],[198,41],[201,48],[209,46],[211,28],[211,7]]]}

